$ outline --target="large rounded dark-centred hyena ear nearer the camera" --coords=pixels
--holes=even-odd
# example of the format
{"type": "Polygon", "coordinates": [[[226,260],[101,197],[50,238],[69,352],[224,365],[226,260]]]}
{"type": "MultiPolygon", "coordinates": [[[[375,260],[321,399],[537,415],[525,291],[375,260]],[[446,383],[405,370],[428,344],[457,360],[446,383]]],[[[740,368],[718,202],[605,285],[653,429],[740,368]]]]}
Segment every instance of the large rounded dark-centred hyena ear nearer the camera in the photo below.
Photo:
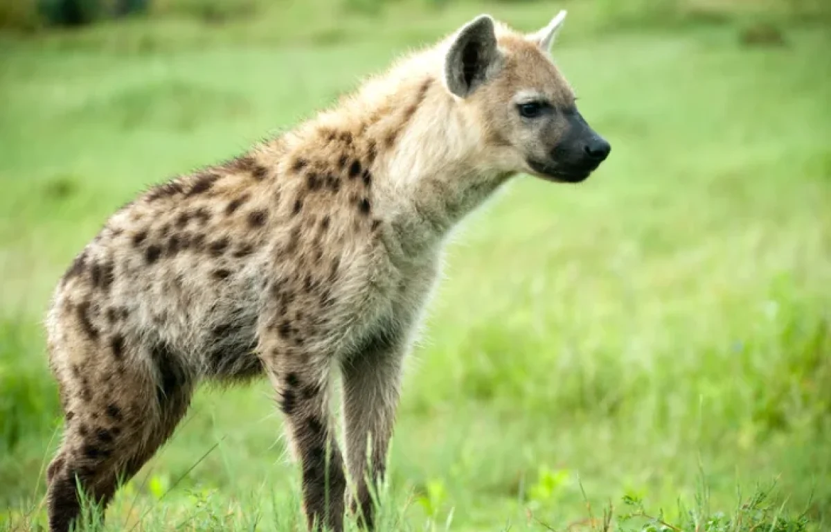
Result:
{"type": "Polygon", "coordinates": [[[450,47],[445,56],[447,88],[461,98],[470,96],[488,80],[498,62],[494,19],[488,15],[479,15],[450,39],[450,47]]]}

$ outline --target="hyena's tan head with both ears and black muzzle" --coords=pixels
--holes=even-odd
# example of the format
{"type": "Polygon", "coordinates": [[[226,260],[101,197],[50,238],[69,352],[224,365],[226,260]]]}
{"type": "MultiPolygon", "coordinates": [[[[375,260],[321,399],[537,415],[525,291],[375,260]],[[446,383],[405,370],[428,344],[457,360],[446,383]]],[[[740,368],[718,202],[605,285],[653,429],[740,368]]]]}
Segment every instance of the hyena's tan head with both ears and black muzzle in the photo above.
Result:
{"type": "Polygon", "coordinates": [[[484,124],[482,162],[499,171],[577,183],[609,155],[548,52],[564,19],[523,35],[481,15],[446,42],[445,85],[484,124]]]}

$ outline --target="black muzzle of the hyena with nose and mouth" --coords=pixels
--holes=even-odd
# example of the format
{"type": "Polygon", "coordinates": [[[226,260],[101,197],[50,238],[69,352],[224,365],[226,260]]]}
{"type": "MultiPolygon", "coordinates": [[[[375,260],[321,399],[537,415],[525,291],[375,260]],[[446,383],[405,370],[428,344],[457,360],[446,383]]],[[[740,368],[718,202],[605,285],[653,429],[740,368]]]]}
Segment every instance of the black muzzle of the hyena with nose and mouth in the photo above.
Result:
{"type": "Polygon", "coordinates": [[[567,130],[549,152],[549,160],[544,163],[529,160],[529,164],[538,173],[555,180],[579,183],[607,159],[612,146],[577,111],[567,117],[567,130]]]}

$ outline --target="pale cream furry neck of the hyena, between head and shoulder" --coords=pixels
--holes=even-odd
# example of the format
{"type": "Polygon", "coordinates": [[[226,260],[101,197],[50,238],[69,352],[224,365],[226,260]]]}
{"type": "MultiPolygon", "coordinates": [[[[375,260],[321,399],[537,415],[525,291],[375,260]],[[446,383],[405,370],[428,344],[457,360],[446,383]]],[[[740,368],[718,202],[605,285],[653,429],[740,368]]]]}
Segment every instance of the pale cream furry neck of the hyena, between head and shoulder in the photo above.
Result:
{"type": "Polygon", "coordinates": [[[402,251],[423,254],[438,249],[509,174],[482,167],[482,126],[445,89],[440,72],[412,68],[387,90],[374,108],[364,107],[367,120],[386,115],[383,127],[366,131],[382,146],[375,201],[402,251]]]}

